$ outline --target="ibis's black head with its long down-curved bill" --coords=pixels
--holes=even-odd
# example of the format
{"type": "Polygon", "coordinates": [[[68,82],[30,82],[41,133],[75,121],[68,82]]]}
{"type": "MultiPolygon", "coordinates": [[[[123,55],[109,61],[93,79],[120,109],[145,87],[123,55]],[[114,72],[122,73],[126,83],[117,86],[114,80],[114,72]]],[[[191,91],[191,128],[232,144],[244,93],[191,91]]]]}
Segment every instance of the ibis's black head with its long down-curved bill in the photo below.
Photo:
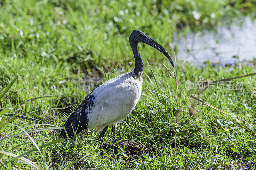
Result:
{"type": "Polygon", "coordinates": [[[129,42],[130,42],[131,47],[133,46],[133,44],[137,44],[137,43],[146,43],[146,44],[154,47],[155,49],[157,49],[160,52],[162,52],[169,59],[169,61],[171,62],[172,66],[174,67],[172,59],[171,59],[170,55],[166,52],[166,50],[164,50],[164,48],[160,44],[158,44],[153,39],[149,38],[142,31],[140,31],[138,29],[133,30],[132,34],[129,37],[129,42]]]}

